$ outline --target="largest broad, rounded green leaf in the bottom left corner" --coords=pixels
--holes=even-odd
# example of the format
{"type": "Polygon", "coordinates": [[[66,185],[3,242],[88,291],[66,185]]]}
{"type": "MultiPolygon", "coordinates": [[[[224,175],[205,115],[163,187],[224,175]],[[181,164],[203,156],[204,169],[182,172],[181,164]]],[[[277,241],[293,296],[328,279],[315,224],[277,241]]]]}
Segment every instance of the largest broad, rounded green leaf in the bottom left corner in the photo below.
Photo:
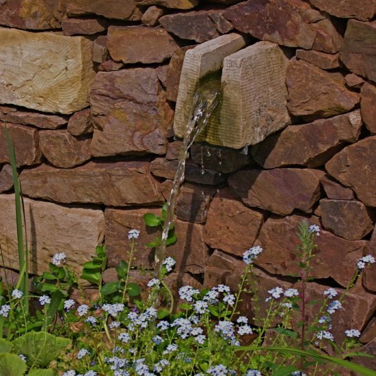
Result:
{"type": "Polygon", "coordinates": [[[58,358],[71,343],[68,338],[53,336],[47,332],[29,332],[13,340],[12,347],[14,352],[26,356],[29,366],[34,364],[45,367],[58,358]]]}

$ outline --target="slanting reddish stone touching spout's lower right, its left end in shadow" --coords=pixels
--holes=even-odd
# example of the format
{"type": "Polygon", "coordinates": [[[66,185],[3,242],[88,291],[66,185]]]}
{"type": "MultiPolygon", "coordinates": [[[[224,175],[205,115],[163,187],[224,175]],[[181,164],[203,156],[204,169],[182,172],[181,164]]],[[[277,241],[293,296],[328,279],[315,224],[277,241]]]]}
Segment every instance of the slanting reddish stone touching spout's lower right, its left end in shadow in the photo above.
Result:
{"type": "Polygon", "coordinates": [[[252,157],[264,168],[286,165],[324,165],[347,142],[356,142],[362,128],[360,111],[309,124],[287,126],[252,148],[252,157]],[[291,148],[291,145],[294,145],[291,148]]]}

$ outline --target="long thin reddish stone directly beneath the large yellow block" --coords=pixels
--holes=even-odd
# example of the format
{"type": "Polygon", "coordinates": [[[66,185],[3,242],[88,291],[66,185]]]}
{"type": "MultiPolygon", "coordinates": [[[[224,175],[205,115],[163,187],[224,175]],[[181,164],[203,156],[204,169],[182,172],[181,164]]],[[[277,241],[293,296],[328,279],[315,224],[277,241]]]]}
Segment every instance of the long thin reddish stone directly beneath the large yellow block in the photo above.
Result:
{"type": "Polygon", "coordinates": [[[46,115],[45,113],[31,111],[16,111],[9,107],[12,111],[0,109],[0,120],[14,124],[33,125],[42,129],[57,129],[68,121],[66,116],[46,115]]]}

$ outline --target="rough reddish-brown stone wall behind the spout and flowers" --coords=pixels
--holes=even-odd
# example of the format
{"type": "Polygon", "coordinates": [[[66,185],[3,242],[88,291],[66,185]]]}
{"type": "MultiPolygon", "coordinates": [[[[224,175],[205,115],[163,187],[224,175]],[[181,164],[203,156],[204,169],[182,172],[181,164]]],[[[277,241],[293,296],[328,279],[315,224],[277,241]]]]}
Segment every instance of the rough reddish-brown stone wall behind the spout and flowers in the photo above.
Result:
{"type": "MultiPolygon", "coordinates": [[[[168,195],[180,142],[172,123],[185,52],[226,33],[279,44],[290,58],[291,124],[250,147],[193,145],[176,207],[178,281],[237,285],[241,254],[256,260],[260,294],[292,285],[299,222],[319,224],[315,283],[345,288],[376,256],[374,0],[0,1],[0,244],[17,267],[6,123],[27,209],[31,272],[49,256],[88,260],[105,240],[107,278],[138,228],[137,266],[156,232],[142,216],[168,195]]],[[[351,288],[344,328],[376,336],[376,265],[351,288]]],[[[342,331],[342,332],[341,332],[342,331]]]]}

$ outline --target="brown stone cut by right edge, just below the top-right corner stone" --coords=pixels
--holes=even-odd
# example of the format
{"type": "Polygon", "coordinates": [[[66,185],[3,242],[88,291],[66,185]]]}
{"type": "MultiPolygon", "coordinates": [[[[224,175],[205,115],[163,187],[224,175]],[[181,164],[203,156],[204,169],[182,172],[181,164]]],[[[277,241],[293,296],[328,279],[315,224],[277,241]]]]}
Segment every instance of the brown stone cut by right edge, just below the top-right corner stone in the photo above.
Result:
{"type": "Polygon", "coordinates": [[[355,75],[376,82],[376,22],[349,20],[340,60],[355,75]]]}

